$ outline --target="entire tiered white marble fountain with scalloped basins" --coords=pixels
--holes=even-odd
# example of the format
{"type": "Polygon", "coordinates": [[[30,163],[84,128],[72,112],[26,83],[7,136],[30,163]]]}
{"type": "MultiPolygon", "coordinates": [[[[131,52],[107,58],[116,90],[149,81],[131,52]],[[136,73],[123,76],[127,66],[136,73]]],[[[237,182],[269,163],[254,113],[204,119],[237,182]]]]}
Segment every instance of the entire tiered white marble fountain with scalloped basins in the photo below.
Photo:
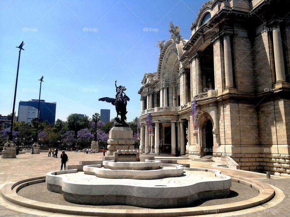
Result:
{"type": "MultiPolygon", "coordinates": [[[[202,198],[226,196],[231,178],[220,171],[184,168],[179,164],[166,164],[162,160],[144,162],[130,159],[136,150],[118,150],[110,160],[85,165],[82,170],[71,169],[46,174],[47,189],[63,193],[71,203],[87,205],[130,205],[148,208],[186,206],[202,198]],[[133,154],[132,154],[132,153],[133,154]]],[[[133,156],[132,156],[133,155],[133,156]]]]}

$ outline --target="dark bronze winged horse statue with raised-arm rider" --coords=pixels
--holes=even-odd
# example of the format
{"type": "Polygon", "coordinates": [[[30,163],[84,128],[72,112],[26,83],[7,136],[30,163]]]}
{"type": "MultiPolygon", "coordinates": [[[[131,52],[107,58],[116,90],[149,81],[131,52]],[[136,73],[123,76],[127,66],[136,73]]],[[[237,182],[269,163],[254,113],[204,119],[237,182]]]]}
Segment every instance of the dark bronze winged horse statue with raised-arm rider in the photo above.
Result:
{"type": "Polygon", "coordinates": [[[130,98],[126,96],[126,93],[124,92],[126,89],[125,86],[117,86],[117,80],[115,81],[115,86],[116,86],[116,96],[115,98],[111,97],[103,97],[98,99],[99,101],[104,101],[104,102],[110,102],[112,105],[115,106],[116,112],[117,112],[117,117],[114,118],[114,125],[119,125],[119,126],[128,126],[128,124],[125,122],[127,120],[126,114],[126,106],[127,106],[127,101],[130,101],[130,98]],[[120,115],[120,118],[118,117],[120,115]]]}

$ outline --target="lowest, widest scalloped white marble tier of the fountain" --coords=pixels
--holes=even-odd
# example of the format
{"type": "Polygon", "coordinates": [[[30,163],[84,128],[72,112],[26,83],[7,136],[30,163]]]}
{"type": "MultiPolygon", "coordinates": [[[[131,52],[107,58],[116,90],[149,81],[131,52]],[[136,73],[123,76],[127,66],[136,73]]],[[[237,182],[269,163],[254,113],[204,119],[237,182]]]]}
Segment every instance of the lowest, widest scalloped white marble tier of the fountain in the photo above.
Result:
{"type": "Polygon", "coordinates": [[[77,170],[66,170],[47,173],[46,182],[48,190],[63,193],[66,201],[88,205],[178,207],[189,205],[202,198],[223,197],[230,191],[231,178],[222,175],[218,170],[199,168],[183,168],[183,170],[184,173],[179,177],[142,181],[100,178],[77,170]]]}

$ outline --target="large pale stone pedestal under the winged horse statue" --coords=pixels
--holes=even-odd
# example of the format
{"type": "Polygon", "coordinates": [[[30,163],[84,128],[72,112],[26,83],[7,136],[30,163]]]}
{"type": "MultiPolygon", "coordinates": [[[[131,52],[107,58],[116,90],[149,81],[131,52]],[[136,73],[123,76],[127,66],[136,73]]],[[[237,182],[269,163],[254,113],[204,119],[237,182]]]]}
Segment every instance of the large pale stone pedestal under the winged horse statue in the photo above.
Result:
{"type": "Polygon", "coordinates": [[[130,127],[113,127],[107,140],[108,156],[113,156],[117,150],[133,150],[133,131],[130,127]]]}

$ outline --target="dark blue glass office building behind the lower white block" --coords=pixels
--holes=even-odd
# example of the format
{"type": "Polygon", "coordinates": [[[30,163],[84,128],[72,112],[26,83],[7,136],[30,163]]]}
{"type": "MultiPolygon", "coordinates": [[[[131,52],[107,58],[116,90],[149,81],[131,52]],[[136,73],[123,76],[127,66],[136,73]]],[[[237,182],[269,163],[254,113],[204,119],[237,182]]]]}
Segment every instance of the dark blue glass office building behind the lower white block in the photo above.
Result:
{"type": "MultiPolygon", "coordinates": [[[[20,101],[19,106],[18,106],[18,116],[19,116],[19,108],[22,105],[23,106],[31,106],[31,107],[34,107],[37,109],[38,108],[38,99],[32,99],[29,101],[20,101]]],[[[45,102],[45,100],[40,99],[39,120],[41,122],[47,120],[48,123],[54,124],[55,111],[56,111],[56,102],[45,102]]]]}

